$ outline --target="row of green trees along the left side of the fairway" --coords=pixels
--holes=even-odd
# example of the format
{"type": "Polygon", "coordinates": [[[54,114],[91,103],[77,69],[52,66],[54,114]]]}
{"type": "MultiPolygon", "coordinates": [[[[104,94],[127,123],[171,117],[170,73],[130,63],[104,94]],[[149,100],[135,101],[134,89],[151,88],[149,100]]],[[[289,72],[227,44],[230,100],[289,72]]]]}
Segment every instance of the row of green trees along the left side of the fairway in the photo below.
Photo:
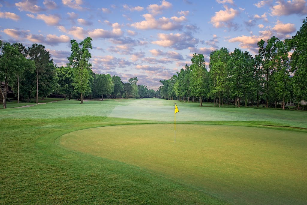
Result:
{"type": "Polygon", "coordinates": [[[3,108],[6,108],[8,85],[13,88],[18,103],[20,99],[30,102],[31,98],[38,102],[39,96],[43,99],[52,93],[64,95],[65,100],[80,100],[81,104],[85,97],[100,97],[102,100],[110,97],[155,97],[153,89],[137,85],[137,77],[123,83],[119,76],[93,73],[89,63],[91,41],[90,37],[80,43],[71,40],[69,62],[59,67],[54,65],[44,45],[33,44],[26,48],[19,42],[10,44],[0,40],[0,81],[5,84],[1,92],[3,108]]]}

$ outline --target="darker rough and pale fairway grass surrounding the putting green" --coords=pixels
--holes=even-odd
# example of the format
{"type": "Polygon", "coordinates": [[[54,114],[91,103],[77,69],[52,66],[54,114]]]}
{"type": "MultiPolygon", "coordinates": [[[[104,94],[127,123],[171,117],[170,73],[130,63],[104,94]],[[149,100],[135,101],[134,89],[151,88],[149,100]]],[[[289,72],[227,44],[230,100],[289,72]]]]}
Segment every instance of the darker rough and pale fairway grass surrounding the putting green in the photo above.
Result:
{"type": "MultiPolygon", "coordinates": [[[[0,110],[1,204],[227,204],[222,199],[206,194],[210,192],[208,190],[201,190],[185,181],[173,180],[160,172],[90,153],[67,150],[57,143],[60,136],[87,128],[172,122],[173,117],[168,115],[171,113],[173,116],[173,101],[143,99],[79,103],[59,101],[29,108],[0,110]],[[118,112],[122,107],[126,107],[123,110],[125,115],[118,112]],[[144,107],[150,108],[151,112],[144,111],[144,107]],[[138,108],[140,112],[135,112],[138,108]]],[[[178,107],[178,123],[270,124],[306,128],[305,112],[261,110],[260,113],[256,109],[245,109],[243,112],[241,108],[199,108],[196,103],[180,102],[178,107]],[[182,114],[185,112],[183,107],[189,111],[195,108],[195,116],[182,114]],[[212,109],[211,120],[204,115],[208,108],[212,109]],[[231,120],[227,118],[220,121],[222,113],[231,120]],[[184,119],[180,119],[179,114],[185,116],[184,119]],[[249,116],[255,114],[257,117],[249,120],[249,116]]],[[[281,129],[305,132],[305,129],[281,129]]]]}

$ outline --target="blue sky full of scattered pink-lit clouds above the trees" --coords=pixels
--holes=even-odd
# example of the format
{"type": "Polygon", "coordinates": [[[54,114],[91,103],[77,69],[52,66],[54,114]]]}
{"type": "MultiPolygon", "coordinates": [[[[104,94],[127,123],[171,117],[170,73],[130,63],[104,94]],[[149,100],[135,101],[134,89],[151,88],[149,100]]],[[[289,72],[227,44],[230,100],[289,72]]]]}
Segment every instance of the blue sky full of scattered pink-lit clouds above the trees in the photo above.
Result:
{"type": "Polygon", "coordinates": [[[291,38],[307,16],[307,0],[0,0],[0,39],[45,45],[65,66],[70,41],[93,39],[94,73],[157,90],[193,53],[225,47],[258,53],[257,42],[291,38]]]}

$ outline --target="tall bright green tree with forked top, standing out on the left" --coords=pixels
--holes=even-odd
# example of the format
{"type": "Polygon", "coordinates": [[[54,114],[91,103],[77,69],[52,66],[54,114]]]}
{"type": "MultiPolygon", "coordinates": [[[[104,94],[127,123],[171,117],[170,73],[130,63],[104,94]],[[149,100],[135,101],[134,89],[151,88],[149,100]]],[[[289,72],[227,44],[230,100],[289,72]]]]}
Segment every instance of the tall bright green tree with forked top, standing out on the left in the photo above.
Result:
{"type": "Polygon", "coordinates": [[[85,38],[80,43],[76,40],[71,40],[72,54],[68,57],[69,63],[67,66],[72,66],[74,69],[74,87],[77,92],[80,93],[80,104],[83,104],[83,94],[88,92],[91,88],[89,86],[89,72],[87,69],[91,68],[91,63],[89,59],[91,58],[91,53],[88,49],[92,49],[91,37],[85,38]],[[82,46],[82,48],[80,48],[82,46]]]}

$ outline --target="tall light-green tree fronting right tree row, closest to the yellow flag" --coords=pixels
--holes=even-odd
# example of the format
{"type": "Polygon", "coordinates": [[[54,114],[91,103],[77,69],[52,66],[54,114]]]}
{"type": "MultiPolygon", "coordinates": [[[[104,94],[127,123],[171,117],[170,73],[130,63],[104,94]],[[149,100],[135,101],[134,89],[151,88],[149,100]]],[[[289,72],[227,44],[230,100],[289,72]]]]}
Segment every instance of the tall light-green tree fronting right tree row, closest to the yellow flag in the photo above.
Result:
{"type": "Polygon", "coordinates": [[[192,70],[191,71],[192,76],[190,82],[191,94],[199,97],[200,106],[202,106],[202,101],[203,101],[202,97],[206,96],[208,93],[205,82],[208,71],[206,69],[204,55],[194,53],[191,61],[192,61],[192,65],[190,65],[190,68],[192,70]]]}

